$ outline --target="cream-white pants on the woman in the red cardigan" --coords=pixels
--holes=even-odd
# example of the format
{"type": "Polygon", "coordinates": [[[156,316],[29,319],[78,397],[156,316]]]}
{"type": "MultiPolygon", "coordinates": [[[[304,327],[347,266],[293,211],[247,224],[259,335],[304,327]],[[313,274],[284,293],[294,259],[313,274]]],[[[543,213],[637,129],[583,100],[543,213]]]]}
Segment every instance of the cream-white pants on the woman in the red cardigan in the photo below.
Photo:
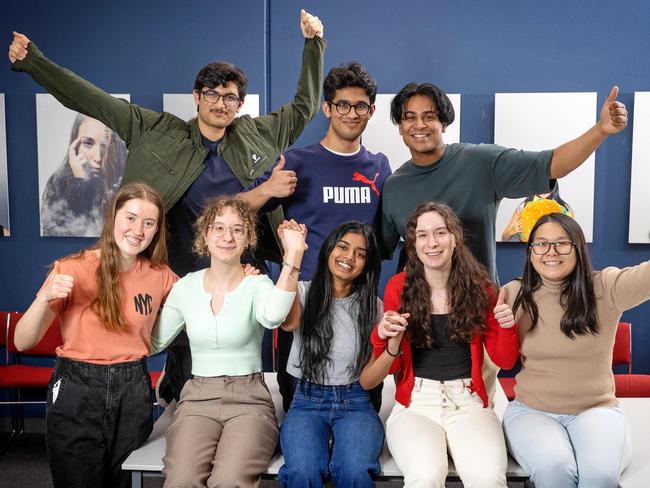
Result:
{"type": "Polygon", "coordinates": [[[466,488],[506,488],[508,455],[494,410],[470,393],[469,379],[415,378],[411,405],[396,403],[386,440],[404,475],[404,486],[444,488],[447,451],[466,488]]]}

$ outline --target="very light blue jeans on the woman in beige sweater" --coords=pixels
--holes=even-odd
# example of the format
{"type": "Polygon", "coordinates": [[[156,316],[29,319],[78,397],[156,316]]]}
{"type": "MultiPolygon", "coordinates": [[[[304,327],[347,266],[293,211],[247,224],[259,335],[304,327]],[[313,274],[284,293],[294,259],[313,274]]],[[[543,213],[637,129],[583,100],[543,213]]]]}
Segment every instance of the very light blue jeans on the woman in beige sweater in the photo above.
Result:
{"type": "Polygon", "coordinates": [[[535,488],[617,488],[632,455],[620,407],[561,415],[515,400],[503,416],[503,429],[510,453],[535,488]]]}

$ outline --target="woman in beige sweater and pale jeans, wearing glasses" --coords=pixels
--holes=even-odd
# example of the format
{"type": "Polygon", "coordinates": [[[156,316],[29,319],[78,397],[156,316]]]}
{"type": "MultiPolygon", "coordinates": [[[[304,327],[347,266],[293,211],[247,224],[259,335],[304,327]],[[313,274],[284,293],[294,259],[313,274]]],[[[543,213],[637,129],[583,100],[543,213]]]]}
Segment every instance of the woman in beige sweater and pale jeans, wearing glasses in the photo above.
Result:
{"type": "Polygon", "coordinates": [[[503,419],[513,456],[537,488],[617,487],[631,446],[612,349],[622,313],[650,299],[650,262],[592,271],[580,226],[553,213],[533,227],[523,277],[505,288],[522,360],[503,419]]]}

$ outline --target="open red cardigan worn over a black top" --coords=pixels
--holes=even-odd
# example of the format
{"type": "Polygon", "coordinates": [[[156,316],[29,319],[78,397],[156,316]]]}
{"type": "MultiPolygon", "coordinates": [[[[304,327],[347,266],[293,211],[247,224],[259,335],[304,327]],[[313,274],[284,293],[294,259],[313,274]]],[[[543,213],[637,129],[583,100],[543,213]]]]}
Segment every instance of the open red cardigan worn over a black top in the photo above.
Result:
{"type": "MultiPolygon", "coordinates": [[[[404,272],[393,276],[386,285],[384,291],[384,310],[397,311],[400,306],[402,297],[402,288],[404,287],[404,272]]],[[[494,302],[496,300],[493,297],[494,302]]],[[[517,324],[514,327],[505,329],[499,325],[494,318],[490,307],[487,311],[487,330],[483,334],[477,334],[470,342],[470,351],[472,355],[472,383],[470,390],[478,393],[483,400],[483,407],[488,406],[487,392],[483,383],[481,369],[483,367],[483,345],[488,351],[490,358],[494,363],[504,369],[511,369],[519,357],[519,336],[517,333],[517,324]]],[[[380,356],[386,349],[386,341],[379,337],[378,328],[375,327],[370,336],[372,342],[373,354],[375,357],[380,356]]],[[[396,357],[391,364],[389,374],[395,375],[395,400],[408,407],[411,403],[411,391],[415,384],[413,374],[413,359],[411,354],[411,336],[408,329],[402,337],[402,354],[396,357]]]]}

